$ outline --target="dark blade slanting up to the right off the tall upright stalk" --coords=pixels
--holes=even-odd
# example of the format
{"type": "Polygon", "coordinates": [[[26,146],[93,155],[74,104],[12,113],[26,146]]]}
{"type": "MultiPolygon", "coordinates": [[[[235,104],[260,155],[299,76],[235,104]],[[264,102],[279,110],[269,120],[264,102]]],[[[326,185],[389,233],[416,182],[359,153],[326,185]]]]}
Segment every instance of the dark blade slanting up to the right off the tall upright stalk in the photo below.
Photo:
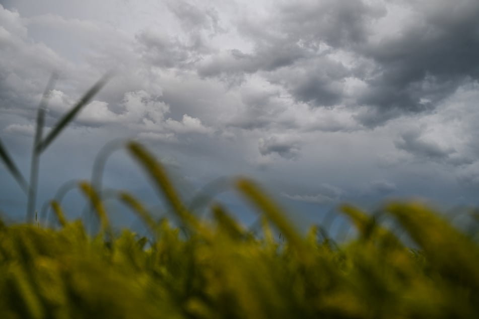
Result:
{"type": "Polygon", "coordinates": [[[51,144],[51,142],[58,136],[58,134],[75,119],[75,116],[81,109],[87,105],[90,100],[105,86],[110,78],[110,73],[105,74],[102,78],[98,80],[95,85],[88,90],[87,93],[77,102],[77,104],[68,112],[66,113],[53,127],[53,129],[48,133],[45,139],[37,145],[36,151],[38,153],[42,153],[51,144]]]}

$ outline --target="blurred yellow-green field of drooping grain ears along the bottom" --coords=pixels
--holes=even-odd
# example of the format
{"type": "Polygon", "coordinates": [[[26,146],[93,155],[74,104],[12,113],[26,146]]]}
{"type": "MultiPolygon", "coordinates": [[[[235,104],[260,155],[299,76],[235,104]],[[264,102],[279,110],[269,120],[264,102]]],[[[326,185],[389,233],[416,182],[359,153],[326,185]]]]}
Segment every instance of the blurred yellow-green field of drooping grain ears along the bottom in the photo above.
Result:
{"type": "Polygon", "coordinates": [[[99,194],[81,183],[101,223],[96,235],[65,220],[56,202],[59,229],[0,226],[0,318],[479,318],[479,246],[426,206],[382,209],[419,249],[353,206],[341,210],[357,238],[334,245],[319,226],[298,232],[240,178],[236,190],[262,221],[256,236],[219,203],[210,206],[212,219],[199,219],[143,146],[127,148],[185,234],[125,192],[118,199],[152,235],[115,233],[99,194]]]}

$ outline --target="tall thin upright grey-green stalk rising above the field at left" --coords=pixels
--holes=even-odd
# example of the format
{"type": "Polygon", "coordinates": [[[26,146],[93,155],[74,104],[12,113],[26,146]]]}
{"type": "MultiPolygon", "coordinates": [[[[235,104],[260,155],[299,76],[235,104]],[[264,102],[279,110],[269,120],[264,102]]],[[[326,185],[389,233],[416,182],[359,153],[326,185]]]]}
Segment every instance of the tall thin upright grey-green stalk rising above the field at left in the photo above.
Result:
{"type": "Polygon", "coordinates": [[[27,220],[33,221],[33,211],[35,210],[37,186],[38,186],[38,167],[40,165],[40,153],[37,151],[38,144],[41,142],[43,134],[43,125],[45,122],[45,109],[48,104],[50,92],[53,90],[56,79],[58,78],[56,73],[51,74],[48,84],[43,92],[43,96],[38,106],[37,113],[37,126],[35,129],[35,138],[33,140],[32,158],[30,163],[30,189],[28,192],[27,202],[27,220]]]}

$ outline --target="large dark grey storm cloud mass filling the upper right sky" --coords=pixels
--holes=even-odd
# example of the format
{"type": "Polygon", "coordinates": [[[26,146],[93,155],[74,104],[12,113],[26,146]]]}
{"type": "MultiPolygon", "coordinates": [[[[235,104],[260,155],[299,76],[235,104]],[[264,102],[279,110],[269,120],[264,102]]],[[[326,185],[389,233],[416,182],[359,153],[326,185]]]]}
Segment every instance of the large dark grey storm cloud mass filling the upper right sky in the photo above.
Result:
{"type": "Polygon", "coordinates": [[[282,5],[263,20],[240,20],[241,34],[254,43],[251,52],[220,53],[201,62],[198,72],[231,77],[263,72],[296,101],[311,106],[368,107],[369,112],[356,117],[367,127],[403,114],[432,111],[459,86],[478,78],[479,3],[401,5],[411,12],[405,18],[408,23],[389,34],[374,29],[381,27],[377,23],[381,18],[394,15],[387,4],[320,1],[282,5]],[[348,66],[327,58],[344,52],[354,60],[348,66]],[[365,88],[346,100],[343,87],[349,77],[362,81],[365,88]]]}

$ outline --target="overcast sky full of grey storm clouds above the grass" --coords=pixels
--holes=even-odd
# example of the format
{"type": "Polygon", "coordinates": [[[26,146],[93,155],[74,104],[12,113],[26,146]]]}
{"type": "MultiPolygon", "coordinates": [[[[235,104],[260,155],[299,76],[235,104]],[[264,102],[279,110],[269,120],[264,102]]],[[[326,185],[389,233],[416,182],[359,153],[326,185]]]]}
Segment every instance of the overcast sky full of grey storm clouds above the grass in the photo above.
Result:
{"type": "MultiPolygon", "coordinates": [[[[118,139],[147,145],[185,200],[245,175],[303,223],[344,202],[475,205],[478,21],[476,0],[2,0],[0,138],[28,177],[51,73],[47,130],[113,71],[42,155],[37,209],[90,179],[118,139]]],[[[103,176],[105,188],[162,205],[124,150],[103,176]]],[[[234,191],[220,199],[254,220],[234,191]]],[[[65,206],[78,217],[86,204],[72,190],[65,206]]],[[[0,165],[0,211],[25,209],[0,165]]]]}

